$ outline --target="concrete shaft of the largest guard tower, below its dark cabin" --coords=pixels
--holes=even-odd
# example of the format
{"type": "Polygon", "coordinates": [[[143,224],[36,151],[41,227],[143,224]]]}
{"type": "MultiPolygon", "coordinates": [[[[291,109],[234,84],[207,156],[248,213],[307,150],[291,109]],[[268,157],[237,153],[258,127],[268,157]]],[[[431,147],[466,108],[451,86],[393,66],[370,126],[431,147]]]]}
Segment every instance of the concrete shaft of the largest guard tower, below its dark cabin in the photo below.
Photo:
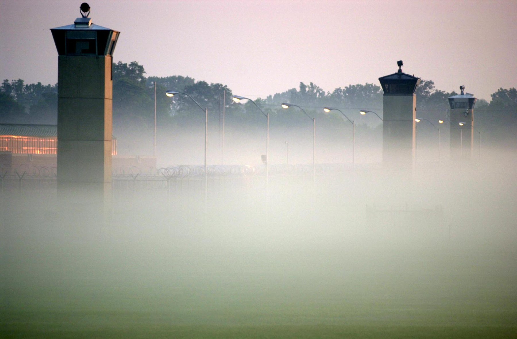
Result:
{"type": "Polygon", "coordinates": [[[58,84],[58,182],[110,182],[111,56],[60,55],[58,84]]]}

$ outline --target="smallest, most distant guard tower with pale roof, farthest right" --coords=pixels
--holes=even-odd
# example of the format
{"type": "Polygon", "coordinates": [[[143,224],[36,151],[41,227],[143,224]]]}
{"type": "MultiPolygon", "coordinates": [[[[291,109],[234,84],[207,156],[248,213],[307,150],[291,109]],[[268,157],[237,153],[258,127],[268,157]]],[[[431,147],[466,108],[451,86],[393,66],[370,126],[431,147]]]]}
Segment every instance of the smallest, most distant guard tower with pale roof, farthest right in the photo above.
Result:
{"type": "Polygon", "coordinates": [[[474,152],[474,105],[477,98],[464,93],[449,97],[450,113],[450,157],[451,160],[470,160],[474,152]],[[462,125],[460,125],[462,124],[462,125]]]}

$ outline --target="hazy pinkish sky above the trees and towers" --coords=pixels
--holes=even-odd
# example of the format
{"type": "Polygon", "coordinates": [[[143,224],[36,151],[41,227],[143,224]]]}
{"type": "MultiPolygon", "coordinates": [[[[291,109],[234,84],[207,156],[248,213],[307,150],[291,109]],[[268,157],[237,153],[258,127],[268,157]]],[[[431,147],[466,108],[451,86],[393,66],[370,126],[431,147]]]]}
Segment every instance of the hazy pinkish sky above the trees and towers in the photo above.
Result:
{"type": "MultiPolygon", "coordinates": [[[[0,78],[57,82],[49,28],[82,1],[0,0],[0,78]]],[[[121,32],[114,61],[261,96],[313,82],[325,91],[403,71],[490,101],[517,86],[517,3],[508,1],[97,1],[121,32]]]]}

